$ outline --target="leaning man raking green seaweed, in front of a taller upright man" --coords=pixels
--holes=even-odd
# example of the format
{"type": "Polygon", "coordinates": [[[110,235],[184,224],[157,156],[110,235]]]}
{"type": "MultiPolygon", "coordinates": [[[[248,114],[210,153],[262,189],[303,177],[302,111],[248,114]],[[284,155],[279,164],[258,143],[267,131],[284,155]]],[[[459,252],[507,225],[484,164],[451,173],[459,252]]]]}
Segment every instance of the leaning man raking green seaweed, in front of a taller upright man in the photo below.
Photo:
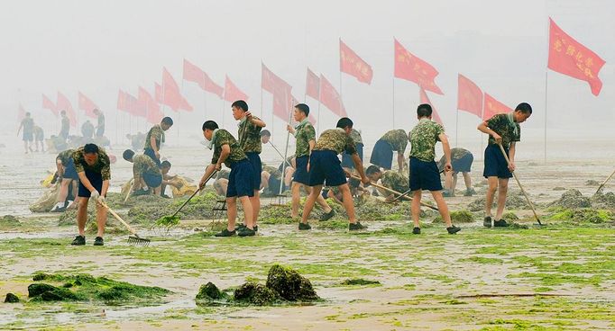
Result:
{"type": "Polygon", "coordinates": [[[231,237],[235,234],[240,237],[254,236],[257,228],[253,227],[252,201],[250,201],[250,198],[254,196],[252,164],[233,135],[227,130],[218,129],[215,121],[203,123],[203,136],[207,140],[207,148],[214,149],[214,157],[198,186],[201,188],[205,186],[207,178],[216,170],[220,170],[223,163],[231,168],[226,189],[228,224],[224,230],[216,234],[216,237],[231,237]],[[237,199],[242,203],[245,228],[235,231],[237,199]]]}

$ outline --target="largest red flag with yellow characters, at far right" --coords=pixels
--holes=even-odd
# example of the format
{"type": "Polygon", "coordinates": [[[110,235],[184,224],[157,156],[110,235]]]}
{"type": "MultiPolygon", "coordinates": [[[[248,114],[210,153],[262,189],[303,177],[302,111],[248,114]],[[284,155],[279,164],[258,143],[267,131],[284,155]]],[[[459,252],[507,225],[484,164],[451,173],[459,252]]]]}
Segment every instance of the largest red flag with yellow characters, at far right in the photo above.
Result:
{"type": "Polygon", "coordinates": [[[551,70],[581,79],[590,84],[592,94],[600,94],[602,81],[598,77],[604,60],[591,49],[574,40],[549,18],[549,63],[551,70]]]}

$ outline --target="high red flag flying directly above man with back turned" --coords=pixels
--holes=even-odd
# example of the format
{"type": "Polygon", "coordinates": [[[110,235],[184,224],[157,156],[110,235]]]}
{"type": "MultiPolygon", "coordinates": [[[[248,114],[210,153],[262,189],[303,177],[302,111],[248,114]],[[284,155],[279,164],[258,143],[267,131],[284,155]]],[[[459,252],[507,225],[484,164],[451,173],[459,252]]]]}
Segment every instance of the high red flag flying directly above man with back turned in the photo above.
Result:
{"type": "Polygon", "coordinates": [[[434,79],[438,75],[435,67],[408,52],[395,40],[395,76],[423,86],[426,91],[443,94],[434,79]]]}

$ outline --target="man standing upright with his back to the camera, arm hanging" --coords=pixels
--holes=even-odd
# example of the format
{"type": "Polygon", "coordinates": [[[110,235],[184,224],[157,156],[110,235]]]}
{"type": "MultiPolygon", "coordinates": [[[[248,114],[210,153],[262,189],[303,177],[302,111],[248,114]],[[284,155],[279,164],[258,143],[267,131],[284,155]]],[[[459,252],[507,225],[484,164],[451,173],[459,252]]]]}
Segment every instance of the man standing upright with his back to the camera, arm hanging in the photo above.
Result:
{"type": "Polygon", "coordinates": [[[420,234],[420,201],[422,190],[428,190],[434,197],[437,203],[437,209],[440,211],[442,219],[445,220],[446,231],[449,234],[459,232],[461,228],[455,227],[451,223],[451,215],[448,212],[448,206],[442,196],[442,183],[440,183],[440,174],[437,170],[436,161],[436,142],[442,142],[442,149],[445,153],[446,163],[445,171],[451,171],[451,149],[448,145],[448,139],[445,135],[445,129],[442,125],[431,121],[431,106],[427,103],[418,105],[417,118],[418,124],[410,131],[410,190],[413,193],[412,200],[412,219],[414,220],[414,228],[412,233],[420,234]]]}

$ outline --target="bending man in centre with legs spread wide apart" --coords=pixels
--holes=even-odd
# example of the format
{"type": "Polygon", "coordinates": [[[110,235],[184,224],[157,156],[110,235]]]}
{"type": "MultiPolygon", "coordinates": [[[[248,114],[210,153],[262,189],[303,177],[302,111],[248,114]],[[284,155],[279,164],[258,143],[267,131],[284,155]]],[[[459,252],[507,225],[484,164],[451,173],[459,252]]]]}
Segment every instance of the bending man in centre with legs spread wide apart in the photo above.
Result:
{"type": "Polygon", "coordinates": [[[344,150],[353,157],[354,167],[361,175],[364,184],[370,183],[370,180],[363,172],[363,164],[359,155],[356,152],[354,141],[350,138],[350,132],[353,130],[353,121],[344,117],[337,121],[336,129],[326,130],[320,135],[316,145],[313,148],[312,154],[309,157],[309,186],[312,187],[308,196],[308,201],[303,209],[303,217],[299,223],[299,230],[308,230],[311,227],[308,224],[309,213],[314,208],[320,192],[323,189],[323,184],[327,186],[338,186],[342,192],[344,209],[348,214],[350,230],[359,230],[365,228],[359,223],[354,215],[353,199],[346,183],[346,177],[341,162],[337,156],[344,150]]]}

